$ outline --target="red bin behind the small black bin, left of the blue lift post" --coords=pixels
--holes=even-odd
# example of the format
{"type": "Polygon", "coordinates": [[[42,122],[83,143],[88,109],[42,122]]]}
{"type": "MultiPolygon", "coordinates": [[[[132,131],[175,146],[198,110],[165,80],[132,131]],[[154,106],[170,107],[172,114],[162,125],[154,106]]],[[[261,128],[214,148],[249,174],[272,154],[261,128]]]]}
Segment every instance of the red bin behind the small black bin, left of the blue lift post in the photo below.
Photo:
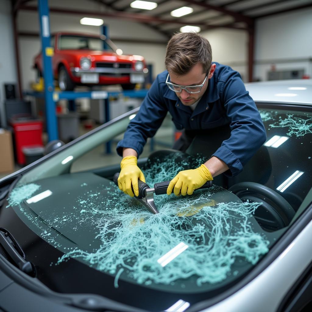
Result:
{"type": "Polygon", "coordinates": [[[23,147],[30,147],[42,144],[42,120],[41,119],[24,119],[17,118],[11,120],[14,131],[14,141],[16,149],[17,163],[25,164],[23,147]]]}

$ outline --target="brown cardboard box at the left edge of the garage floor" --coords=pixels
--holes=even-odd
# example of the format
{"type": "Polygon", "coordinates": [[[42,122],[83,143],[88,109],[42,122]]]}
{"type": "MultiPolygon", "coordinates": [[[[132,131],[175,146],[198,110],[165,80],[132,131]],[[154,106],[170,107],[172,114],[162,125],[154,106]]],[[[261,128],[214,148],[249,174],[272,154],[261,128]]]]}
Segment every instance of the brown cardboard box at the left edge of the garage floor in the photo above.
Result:
{"type": "Polygon", "coordinates": [[[0,172],[14,171],[12,134],[0,128],[0,172]]]}

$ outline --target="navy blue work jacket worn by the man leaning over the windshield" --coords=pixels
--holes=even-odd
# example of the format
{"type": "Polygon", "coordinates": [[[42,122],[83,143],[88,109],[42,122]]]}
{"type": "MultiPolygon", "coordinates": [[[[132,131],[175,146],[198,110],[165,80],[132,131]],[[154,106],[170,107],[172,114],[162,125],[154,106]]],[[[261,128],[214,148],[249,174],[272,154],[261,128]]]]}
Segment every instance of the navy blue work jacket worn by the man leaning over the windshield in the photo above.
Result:
{"type": "MultiPolygon", "coordinates": [[[[146,97],[138,114],[132,119],[117,144],[117,153],[122,156],[124,147],[143,151],[147,138],[154,136],[167,112],[172,115],[178,130],[204,130],[229,124],[231,136],[220,142],[220,148],[212,155],[223,160],[230,170],[225,174],[235,176],[243,165],[266,141],[266,131],[259,111],[241,76],[231,67],[219,63],[195,110],[181,103],[176,93],[165,81],[168,71],[160,73],[146,97]]],[[[207,131],[211,135],[211,131],[207,131]]],[[[208,159],[207,159],[208,160],[208,159]]]]}

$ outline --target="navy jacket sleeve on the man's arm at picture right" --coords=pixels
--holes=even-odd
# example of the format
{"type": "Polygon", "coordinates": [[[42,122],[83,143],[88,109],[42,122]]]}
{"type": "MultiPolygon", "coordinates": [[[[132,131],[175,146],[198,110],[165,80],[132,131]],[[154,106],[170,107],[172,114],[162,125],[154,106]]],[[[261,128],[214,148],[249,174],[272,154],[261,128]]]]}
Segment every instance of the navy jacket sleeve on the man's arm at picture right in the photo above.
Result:
{"type": "Polygon", "coordinates": [[[221,96],[227,116],[231,119],[231,136],[212,155],[224,161],[232,177],[243,170],[243,166],[266,141],[266,130],[255,102],[252,100],[241,77],[232,72],[221,88],[221,96]]]}

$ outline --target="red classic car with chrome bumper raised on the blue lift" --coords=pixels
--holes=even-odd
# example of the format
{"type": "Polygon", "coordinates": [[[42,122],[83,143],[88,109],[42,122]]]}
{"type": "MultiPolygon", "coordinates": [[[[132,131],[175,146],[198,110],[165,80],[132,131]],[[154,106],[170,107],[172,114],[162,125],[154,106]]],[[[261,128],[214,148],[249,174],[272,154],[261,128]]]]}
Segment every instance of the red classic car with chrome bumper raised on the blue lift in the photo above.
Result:
{"type": "MultiPolygon", "coordinates": [[[[51,36],[54,47],[53,76],[61,90],[75,85],[115,85],[134,89],[144,82],[148,72],[143,56],[122,55],[122,51],[104,35],[58,32],[51,36]]],[[[42,76],[41,53],[35,56],[33,68],[42,76]]]]}

